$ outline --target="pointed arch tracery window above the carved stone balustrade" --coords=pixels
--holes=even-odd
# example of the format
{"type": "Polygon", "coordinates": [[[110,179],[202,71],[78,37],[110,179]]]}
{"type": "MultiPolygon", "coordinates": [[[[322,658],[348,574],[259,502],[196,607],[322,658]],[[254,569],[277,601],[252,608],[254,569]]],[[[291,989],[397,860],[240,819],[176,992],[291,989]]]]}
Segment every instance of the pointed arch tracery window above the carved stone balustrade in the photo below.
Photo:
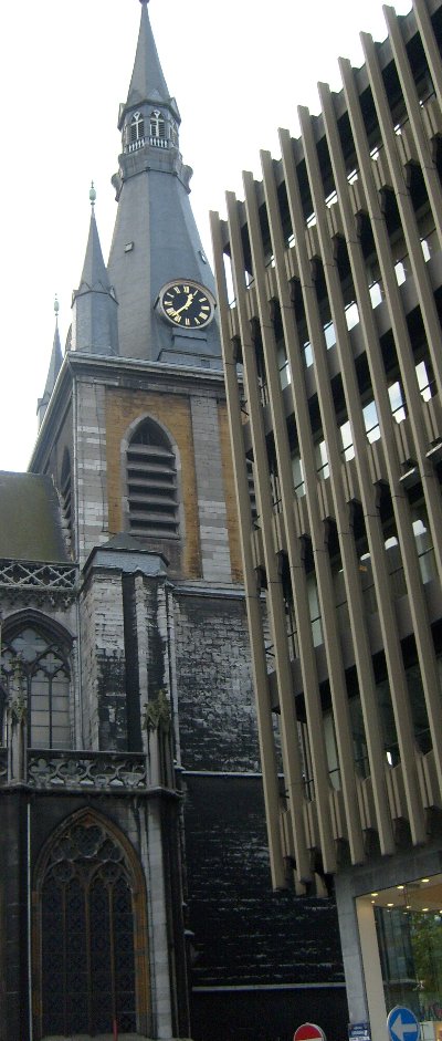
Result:
{"type": "Polygon", "coordinates": [[[8,702],[27,707],[31,748],[71,748],[67,648],[45,627],[23,625],[2,636],[0,676],[8,702]]]}

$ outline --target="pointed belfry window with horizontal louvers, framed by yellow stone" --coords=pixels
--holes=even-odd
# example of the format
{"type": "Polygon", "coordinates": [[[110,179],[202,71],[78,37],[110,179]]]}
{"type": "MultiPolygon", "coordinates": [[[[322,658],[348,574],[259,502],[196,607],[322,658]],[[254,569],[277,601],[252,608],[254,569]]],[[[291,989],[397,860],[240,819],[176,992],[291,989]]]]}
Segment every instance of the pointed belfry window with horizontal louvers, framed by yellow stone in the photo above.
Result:
{"type": "Polygon", "coordinates": [[[151,419],[137,427],[127,449],[127,497],[133,534],[155,539],[178,535],[175,454],[151,419]]]}

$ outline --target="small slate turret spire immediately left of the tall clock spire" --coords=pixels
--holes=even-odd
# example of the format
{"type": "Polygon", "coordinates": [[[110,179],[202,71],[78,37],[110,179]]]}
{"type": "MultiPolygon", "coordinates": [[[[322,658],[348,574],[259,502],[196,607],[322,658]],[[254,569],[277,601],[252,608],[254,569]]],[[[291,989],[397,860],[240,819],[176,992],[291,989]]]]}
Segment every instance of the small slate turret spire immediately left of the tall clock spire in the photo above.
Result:
{"type": "Polygon", "coordinates": [[[117,302],[109,283],[95,220],[96,192],[90,191],[91,222],[78,289],[72,300],[72,351],[118,354],[117,302]]]}

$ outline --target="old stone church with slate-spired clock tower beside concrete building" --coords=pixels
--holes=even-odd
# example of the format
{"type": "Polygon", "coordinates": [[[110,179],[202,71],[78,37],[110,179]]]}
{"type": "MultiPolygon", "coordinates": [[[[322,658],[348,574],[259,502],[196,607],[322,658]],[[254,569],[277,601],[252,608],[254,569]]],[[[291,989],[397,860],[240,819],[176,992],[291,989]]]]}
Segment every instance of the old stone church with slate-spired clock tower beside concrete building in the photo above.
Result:
{"type": "Polygon", "coordinates": [[[30,472],[0,475],[0,1041],[267,1041],[304,924],[270,891],[214,285],[148,0],[118,127],[108,263],[92,186],[30,472]]]}

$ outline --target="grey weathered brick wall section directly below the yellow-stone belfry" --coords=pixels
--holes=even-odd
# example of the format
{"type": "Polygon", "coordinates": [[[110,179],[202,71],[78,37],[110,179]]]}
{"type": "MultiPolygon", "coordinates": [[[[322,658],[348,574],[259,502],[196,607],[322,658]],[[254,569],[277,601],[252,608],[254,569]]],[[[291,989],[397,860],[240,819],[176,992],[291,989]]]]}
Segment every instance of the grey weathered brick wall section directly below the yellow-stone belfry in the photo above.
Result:
{"type": "Polygon", "coordinates": [[[183,767],[259,770],[243,598],[176,590],[175,629],[183,767]]]}

